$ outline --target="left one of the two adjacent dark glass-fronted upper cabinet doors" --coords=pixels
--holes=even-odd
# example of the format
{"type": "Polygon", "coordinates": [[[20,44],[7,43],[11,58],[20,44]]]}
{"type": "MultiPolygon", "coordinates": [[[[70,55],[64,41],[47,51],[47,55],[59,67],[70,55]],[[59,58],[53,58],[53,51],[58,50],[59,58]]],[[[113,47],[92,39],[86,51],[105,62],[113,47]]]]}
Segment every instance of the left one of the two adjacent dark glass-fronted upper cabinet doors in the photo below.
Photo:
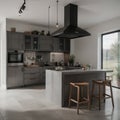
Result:
{"type": "Polygon", "coordinates": [[[31,49],[32,49],[32,36],[25,35],[25,50],[31,50],[31,49]]]}

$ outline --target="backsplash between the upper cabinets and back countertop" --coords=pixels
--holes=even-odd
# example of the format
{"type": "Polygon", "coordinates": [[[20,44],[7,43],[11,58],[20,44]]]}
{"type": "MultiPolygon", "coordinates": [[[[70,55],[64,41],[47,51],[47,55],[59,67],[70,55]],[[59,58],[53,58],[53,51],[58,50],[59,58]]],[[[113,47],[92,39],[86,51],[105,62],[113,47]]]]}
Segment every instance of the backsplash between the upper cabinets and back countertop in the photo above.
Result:
{"type": "Polygon", "coordinates": [[[39,63],[55,63],[55,62],[66,62],[64,53],[56,53],[56,52],[24,52],[24,64],[39,64],[39,63]]]}

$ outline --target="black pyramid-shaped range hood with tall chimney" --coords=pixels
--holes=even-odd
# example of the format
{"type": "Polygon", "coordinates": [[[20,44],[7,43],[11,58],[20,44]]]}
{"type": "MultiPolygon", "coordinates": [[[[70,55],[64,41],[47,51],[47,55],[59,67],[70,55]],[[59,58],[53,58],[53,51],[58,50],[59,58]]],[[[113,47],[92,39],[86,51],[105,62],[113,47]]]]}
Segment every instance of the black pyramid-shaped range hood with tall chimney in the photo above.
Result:
{"type": "Polygon", "coordinates": [[[74,4],[68,4],[64,8],[64,27],[58,29],[52,36],[61,37],[61,38],[78,38],[89,36],[90,33],[79,28],[77,26],[77,17],[78,17],[78,6],[74,4]]]}

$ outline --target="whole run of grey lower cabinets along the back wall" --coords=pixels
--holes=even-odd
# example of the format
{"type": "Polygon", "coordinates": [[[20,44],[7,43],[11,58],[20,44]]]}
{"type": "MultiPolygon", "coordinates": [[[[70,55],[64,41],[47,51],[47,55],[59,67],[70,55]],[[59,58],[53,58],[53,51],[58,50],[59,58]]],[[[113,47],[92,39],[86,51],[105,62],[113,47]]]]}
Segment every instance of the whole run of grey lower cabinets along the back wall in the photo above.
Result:
{"type": "Polygon", "coordinates": [[[29,85],[45,85],[46,69],[44,67],[9,66],[7,72],[7,88],[15,88],[29,85]]]}

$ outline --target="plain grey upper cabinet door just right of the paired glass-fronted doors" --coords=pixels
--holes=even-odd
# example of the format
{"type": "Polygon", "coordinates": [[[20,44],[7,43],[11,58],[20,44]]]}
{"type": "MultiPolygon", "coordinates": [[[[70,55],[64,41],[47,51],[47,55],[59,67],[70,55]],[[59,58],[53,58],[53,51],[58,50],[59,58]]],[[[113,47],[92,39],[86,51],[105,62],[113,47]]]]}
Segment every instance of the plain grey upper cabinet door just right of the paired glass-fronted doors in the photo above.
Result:
{"type": "Polygon", "coordinates": [[[50,36],[40,36],[39,50],[40,51],[52,51],[53,50],[52,37],[50,37],[50,36]]]}

